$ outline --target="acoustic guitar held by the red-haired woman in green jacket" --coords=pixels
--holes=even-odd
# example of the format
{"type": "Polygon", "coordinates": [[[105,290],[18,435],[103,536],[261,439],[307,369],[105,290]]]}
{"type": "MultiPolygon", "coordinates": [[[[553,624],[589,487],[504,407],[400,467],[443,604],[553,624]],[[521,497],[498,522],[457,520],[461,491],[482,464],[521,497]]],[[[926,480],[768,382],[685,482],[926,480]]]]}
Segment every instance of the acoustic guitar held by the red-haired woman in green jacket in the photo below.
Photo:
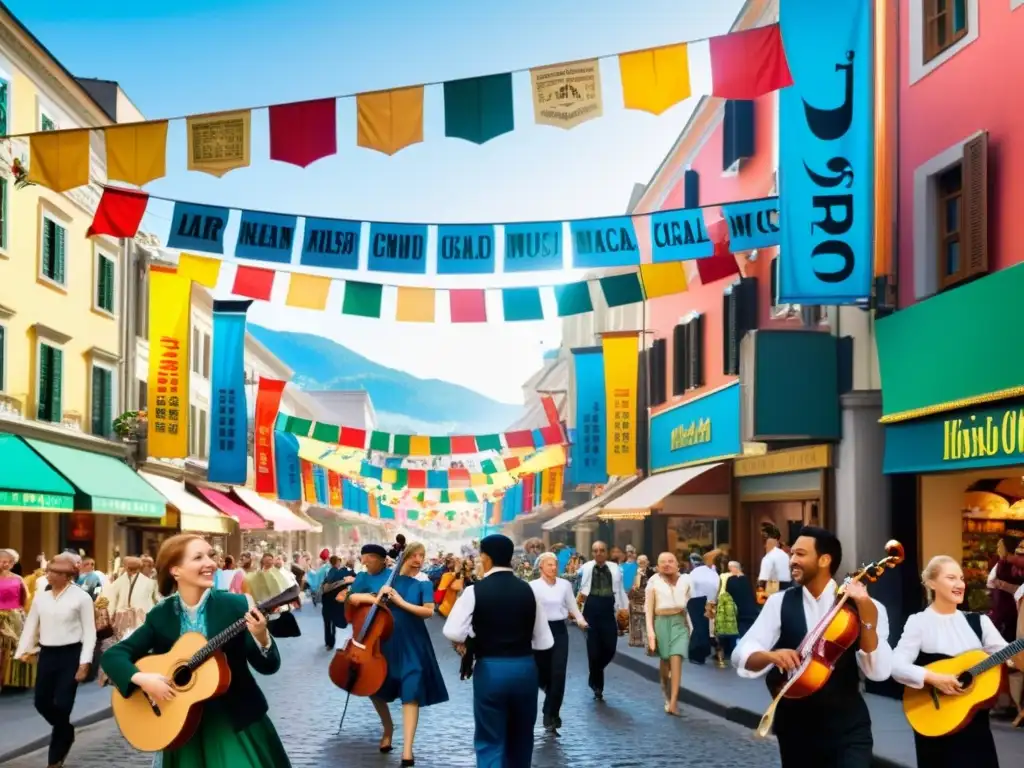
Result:
{"type": "MultiPolygon", "coordinates": [[[[298,599],[299,588],[295,586],[256,607],[266,615],[298,599]]],[[[189,632],[167,653],[138,659],[135,666],[139,672],[163,675],[171,681],[174,698],[153,701],[139,688],[122,696],[115,688],[114,719],[125,740],[139,752],[174,750],[188,741],[199,728],[203,705],[223,694],[231,684],[231,671],[221,648],[245,631],[243,616],[209,640],[189,632]]]]}

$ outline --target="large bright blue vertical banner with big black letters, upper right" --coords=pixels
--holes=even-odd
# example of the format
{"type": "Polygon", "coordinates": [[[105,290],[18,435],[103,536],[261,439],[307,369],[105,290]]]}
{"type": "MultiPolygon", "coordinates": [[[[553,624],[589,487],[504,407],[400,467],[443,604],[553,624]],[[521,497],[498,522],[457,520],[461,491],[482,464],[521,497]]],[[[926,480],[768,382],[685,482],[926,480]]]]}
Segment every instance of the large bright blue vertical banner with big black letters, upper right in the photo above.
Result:
{"type": "Polygon", "coordinates": [[[871,293],[874,53],[864,0],[780,0],[794,84],[779,91],[779,298],[856,304],[871,293]]]}

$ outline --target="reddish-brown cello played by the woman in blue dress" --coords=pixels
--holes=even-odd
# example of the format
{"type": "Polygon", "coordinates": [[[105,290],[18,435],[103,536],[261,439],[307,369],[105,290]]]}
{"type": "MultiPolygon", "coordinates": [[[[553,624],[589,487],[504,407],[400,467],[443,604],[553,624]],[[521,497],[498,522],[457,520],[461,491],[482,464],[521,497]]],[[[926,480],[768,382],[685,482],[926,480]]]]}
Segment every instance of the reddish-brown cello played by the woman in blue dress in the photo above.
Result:
{"type": "MultiPolygon", "coordinates": [[[[401,570],[404,553],[399,552],[384,587],[391,587],[401,570]]],[[[340,595],[339,595],[340,597],[340,595]]],[[[345,691],[345,709],[341,714],[341,723],[345,723],[345,713],[348,712],[348,701],[355,696],[372,696],[381,689],[387,680],[387,658],[384,657],[383,644],[394,632],[394,617],[386,605],[386,599],[376,602],[353,605],[345,602],[345,621],[352,628],[352,639],[344,648],[334,652],[328,676],[331,682],[345,691]]]]}

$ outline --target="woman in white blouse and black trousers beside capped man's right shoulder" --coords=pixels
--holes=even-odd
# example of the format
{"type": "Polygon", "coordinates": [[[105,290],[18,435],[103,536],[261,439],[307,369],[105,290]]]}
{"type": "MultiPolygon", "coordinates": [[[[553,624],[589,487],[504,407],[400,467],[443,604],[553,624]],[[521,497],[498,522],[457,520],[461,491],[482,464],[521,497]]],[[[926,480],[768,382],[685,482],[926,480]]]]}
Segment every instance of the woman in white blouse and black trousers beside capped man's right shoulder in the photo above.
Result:
{"type": "Polygon", "coordinates": [[[535,651],[535,655],[541,690],[545,692],[544,727],[549,732],[556,732],[562,727],[559,712],[565,696],[565,666],[569,658],[569,635],[565,620],[572,616],[572,621],[582,630],[587,629],[587,622],[572,596],[572,585],[558,578],[558,556],[545,552],[537,558],[537,567],[541,571],[541,578],[530,582],[529,588],[537,595],[538,602],[544,606],[544,614],[548,617],[555,644],[548,650],[535,651]]]}

